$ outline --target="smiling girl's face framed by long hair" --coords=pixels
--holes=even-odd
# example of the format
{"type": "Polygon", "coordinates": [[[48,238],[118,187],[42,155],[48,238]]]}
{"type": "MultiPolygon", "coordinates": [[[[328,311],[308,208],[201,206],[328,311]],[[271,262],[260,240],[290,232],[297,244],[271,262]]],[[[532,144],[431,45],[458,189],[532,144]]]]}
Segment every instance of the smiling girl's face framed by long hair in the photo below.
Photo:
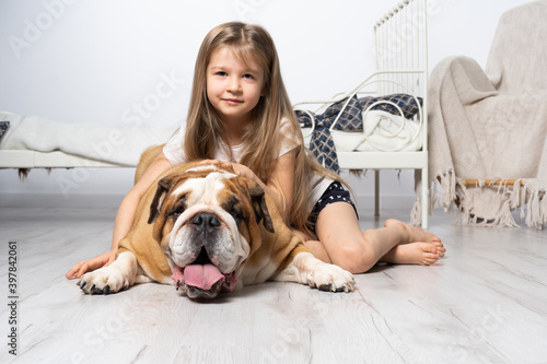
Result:
{"type": "Polygon", "coordinates": [[[222,47],[211,54],[207,67],[207,97],[226,126],[243,126],[263,95],[264,72],[253,57],[248,66],[233,50],[222,47]]]}

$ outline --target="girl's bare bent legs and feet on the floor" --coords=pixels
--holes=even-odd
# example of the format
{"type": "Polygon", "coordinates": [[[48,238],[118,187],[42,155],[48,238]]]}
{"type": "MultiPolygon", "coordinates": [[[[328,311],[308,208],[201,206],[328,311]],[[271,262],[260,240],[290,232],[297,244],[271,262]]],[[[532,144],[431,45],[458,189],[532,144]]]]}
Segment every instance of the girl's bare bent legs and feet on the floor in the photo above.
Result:
{"type": "Polygon", "coordinates": [[[438,245],[432,242],[437,240],[442,247],[442,243],[434,235],[397,220],[388,220],[382,228],[361,233],[353,207],[347,202],[335,202],[323,209],[317,218],[315,231],[321,243],[309,240],[305,243],[306,247],[317,258],[352,273],[365,272],[381,260],[432,263],[439,259],[438,245]],[[391,251],[401,244],[415,242],[420,245],[391,251]]]}

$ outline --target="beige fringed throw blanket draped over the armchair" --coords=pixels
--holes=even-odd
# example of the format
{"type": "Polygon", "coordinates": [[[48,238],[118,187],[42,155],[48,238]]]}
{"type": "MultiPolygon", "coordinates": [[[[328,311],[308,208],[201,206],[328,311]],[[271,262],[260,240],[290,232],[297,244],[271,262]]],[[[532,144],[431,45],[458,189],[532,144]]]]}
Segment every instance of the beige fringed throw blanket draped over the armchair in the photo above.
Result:
{"type": "Polygon", "coordinates": [[[517,208],[528,226],[547,222],[546,17],[547,1],[507,12],[486,73],[473,59],[454,57],[430,77],[431,201],[456,207],[457,223],[516,226],[517,208]],[[484,185],[498,179],[516,181],[484,185]]]}

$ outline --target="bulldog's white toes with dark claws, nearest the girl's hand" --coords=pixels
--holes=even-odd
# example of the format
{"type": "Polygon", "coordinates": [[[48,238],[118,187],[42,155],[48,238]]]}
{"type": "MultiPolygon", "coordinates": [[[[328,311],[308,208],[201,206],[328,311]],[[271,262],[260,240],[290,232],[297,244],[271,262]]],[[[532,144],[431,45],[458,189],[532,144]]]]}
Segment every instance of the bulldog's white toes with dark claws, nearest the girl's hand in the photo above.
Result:
{"type": "Polygon", "coordinates": [[[78,285],[88,294],[110,294],[126,290],[130,284],[119,270],[104,267],[83,274],[78,285]]]}

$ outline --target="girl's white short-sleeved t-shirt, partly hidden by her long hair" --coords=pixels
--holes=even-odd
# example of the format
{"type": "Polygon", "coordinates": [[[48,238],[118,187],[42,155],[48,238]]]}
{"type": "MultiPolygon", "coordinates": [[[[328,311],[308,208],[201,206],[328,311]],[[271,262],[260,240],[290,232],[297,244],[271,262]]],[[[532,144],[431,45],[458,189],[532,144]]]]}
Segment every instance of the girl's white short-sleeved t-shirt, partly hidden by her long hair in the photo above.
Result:
{"type": "MultiPolygon", "coordinates": [[[[289,128],[289,120],[282,119],[281,120],[281,132],[283,130],[287,130],[289,128]]],[[[177,132],[171,137],[171,139],[167,141],[165,146],[163,148],[163,154],[170,161],[171,164],[177,165],[181,163],[187,162],[186,153],[184,151],[184,134],[185,134],[185,129],[186,129],[186,122],[184,122],[181,128],[177,130],[177,132]]],[[[286,132],[287,136],[290,136],[288,132],[286,132]]],[[[224,161],[229,162],[230,161],[230,155],[228,154],[228,148],[230,148],[232,155],[234,157],[235,163],[240,163],[242,153],[243,153],[243,144],[235,145],[235,146],[228,146],[224,144],[224,142],[221,142],[222,144],[217,146],[217,150],[214,152],[214,158],[219,161],[224,161]]],[[[292,151],[294,148],[299,145],[298,140],[293,140],[290,138],[286,138],[283,144],[281,145],[281,149],[279,150],[279,155],[278,157],[289,153],[292,151]]],[[[311,183],[312,185],[317,184],[317,181],[322,178],[319,175],[315,175],[311,183]]],[[[333,183],[331,179],[329,178],[323,178],[317,186],[315,186],[314,190],[312,191],[312,199],[314,201],[317,201],[323,192],[327,189],[327,187],[333,183]]]]}

